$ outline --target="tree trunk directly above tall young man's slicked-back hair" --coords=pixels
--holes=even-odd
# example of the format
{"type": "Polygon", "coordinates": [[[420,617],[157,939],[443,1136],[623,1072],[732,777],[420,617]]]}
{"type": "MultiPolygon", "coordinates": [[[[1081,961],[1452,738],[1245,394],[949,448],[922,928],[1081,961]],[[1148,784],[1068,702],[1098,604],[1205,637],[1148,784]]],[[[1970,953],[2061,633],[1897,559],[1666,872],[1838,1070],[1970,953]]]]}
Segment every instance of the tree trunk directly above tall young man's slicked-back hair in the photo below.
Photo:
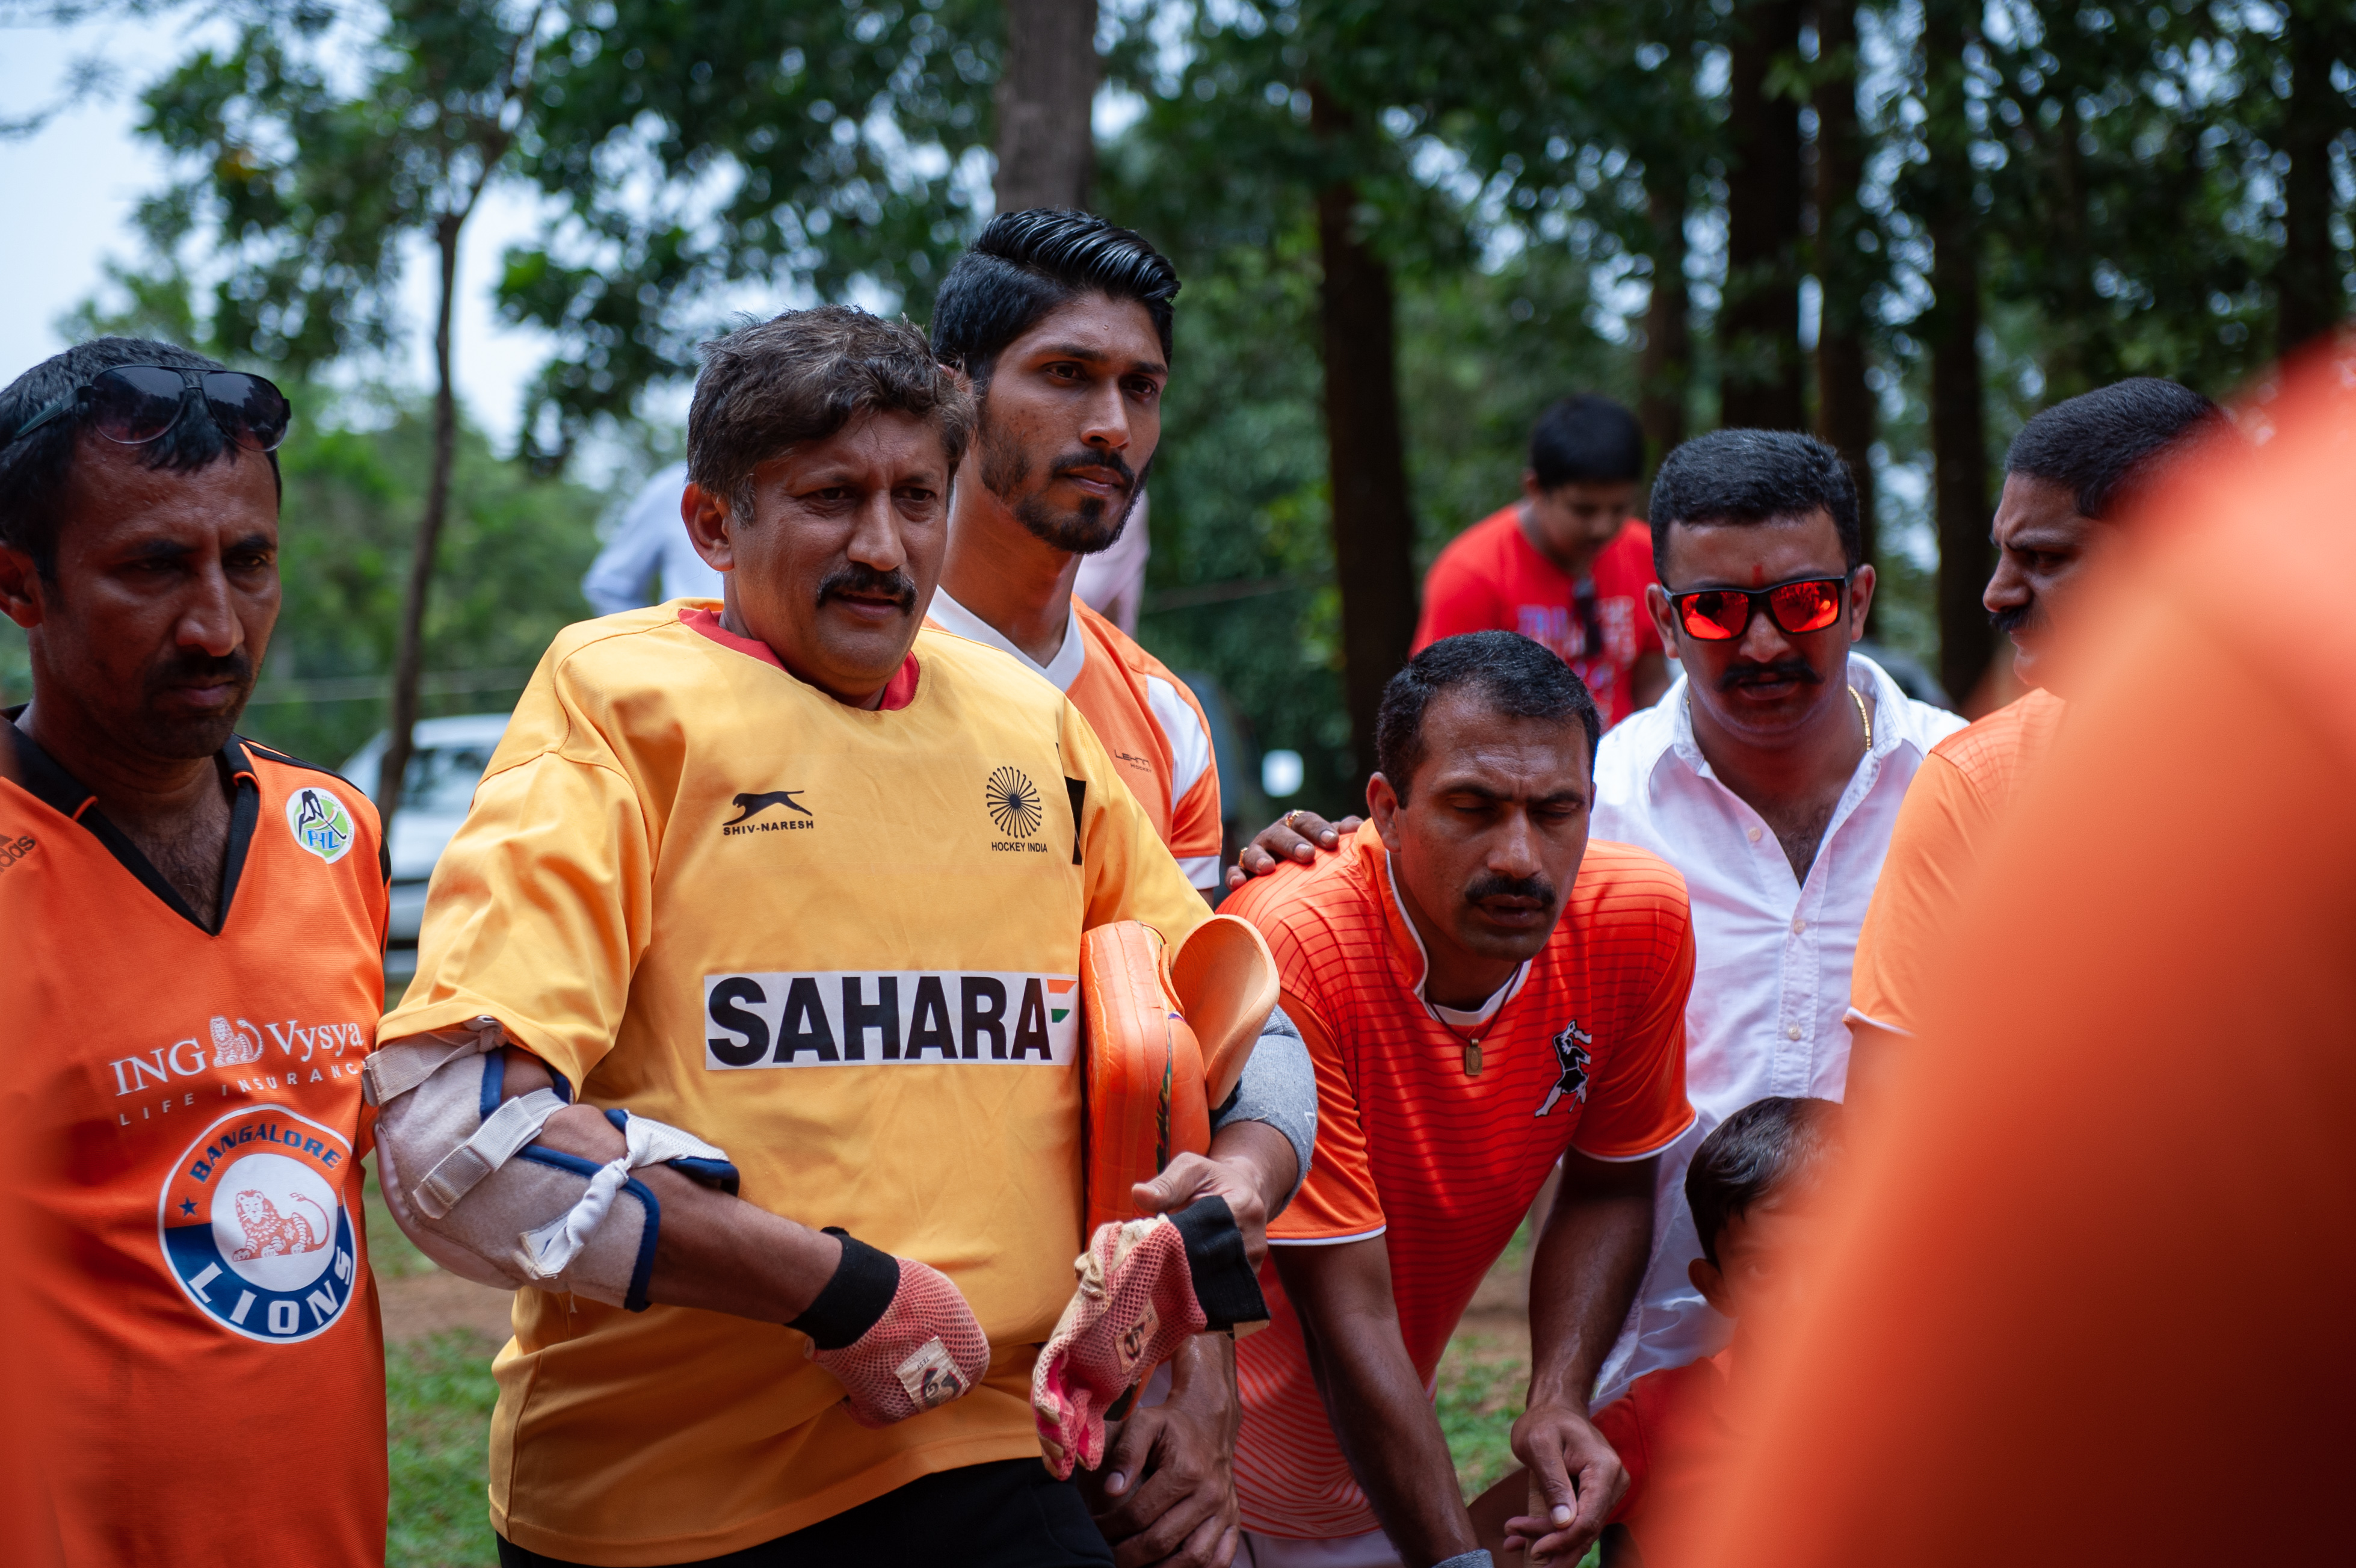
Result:
{"type": "Polygon", "coordinates": [[[1096,0],[1006,0],[999,75],[999,212],[1086,207],[1096,177],[1088,111],[1103,66],[1096,0]]]}

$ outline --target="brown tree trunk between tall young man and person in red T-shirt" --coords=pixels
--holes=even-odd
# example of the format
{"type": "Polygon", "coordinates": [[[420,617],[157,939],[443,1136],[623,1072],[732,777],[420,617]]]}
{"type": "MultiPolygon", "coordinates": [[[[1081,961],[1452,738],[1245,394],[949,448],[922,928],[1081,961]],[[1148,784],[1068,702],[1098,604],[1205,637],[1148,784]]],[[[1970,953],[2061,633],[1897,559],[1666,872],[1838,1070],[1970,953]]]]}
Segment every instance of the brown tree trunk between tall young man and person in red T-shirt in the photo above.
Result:
{"type": "MultiPolygon", "coordinates": [[[[1310,127],[1333,144],[1350,134],[1350,118],[1312,90],[1310,127]]],[[[1374,771],[1383,684],[1416,639],[1416,519],[1407,505],[1390,269],[1357,231],[1357,186],[1348,179],[1317,191],[1317,250],[1343,691],[1364,776],[1374,771]]]]}

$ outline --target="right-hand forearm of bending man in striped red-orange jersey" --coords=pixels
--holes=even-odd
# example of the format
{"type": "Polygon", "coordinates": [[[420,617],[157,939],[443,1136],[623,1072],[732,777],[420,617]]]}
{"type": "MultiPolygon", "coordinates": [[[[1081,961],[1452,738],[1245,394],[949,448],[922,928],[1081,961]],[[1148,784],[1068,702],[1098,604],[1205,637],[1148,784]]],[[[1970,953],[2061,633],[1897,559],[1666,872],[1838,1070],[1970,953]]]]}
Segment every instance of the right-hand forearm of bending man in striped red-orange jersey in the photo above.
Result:
{"type": "Polygon", "coordinates": [[[1583,1160],[1576,1179],[1564,1172],[1529,1271],[1531,1405],[1586,1412],[1644,1278],[1656,1170],[1583,1160]]]}

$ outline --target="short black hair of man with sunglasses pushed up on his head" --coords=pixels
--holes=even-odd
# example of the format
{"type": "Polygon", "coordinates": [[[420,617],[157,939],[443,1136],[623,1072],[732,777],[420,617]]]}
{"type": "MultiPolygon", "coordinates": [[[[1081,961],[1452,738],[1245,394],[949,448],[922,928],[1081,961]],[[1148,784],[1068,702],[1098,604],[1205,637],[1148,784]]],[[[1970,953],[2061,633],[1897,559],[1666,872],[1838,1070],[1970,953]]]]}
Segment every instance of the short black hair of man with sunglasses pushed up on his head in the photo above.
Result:
{"type": "MultiPolygon", "coordinates": [[[[14,434],[57,398],[73,396],[97,375],[115,365],[170,365],[174,370],[229,370],[217,358],[205,358],[193,349],[148,337],[92,337],[64,354],[52,354],[0,391],[0,436],[14,434]]],[[[90,406],[49,420],[24,441],[0,446],[0,545],[33,556],[33,571],[57,580],[57,535],[66,523],[66,483],[73,476],[73,448],[90,424],[90,406]]],[[[139,460],[151,469],[174,469],[193,474],[212,467],[224,455],[238,462],[243,448],[221,434],[221,427],[200,410],[184,410],[165,434],[137,448],[139,460]]],[[[278,474],[278,453],[262,453],[271,465],[271,481],[285,495],[285,479],[278,474]]]]}

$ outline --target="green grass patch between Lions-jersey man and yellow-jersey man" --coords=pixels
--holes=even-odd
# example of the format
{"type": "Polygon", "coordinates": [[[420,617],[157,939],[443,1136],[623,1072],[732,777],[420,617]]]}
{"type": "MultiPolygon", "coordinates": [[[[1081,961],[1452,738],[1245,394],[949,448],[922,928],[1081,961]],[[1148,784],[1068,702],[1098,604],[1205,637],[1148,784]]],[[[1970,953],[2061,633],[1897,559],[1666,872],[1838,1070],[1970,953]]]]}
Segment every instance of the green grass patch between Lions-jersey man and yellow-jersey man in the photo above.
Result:
{"type": "Polygon", "coordinates": [[[384,1353],[393,1457],[389,1568],[499,1561],[483,1511],[495,1351],[478,1335],[448,1332],[384,1353]]]}

